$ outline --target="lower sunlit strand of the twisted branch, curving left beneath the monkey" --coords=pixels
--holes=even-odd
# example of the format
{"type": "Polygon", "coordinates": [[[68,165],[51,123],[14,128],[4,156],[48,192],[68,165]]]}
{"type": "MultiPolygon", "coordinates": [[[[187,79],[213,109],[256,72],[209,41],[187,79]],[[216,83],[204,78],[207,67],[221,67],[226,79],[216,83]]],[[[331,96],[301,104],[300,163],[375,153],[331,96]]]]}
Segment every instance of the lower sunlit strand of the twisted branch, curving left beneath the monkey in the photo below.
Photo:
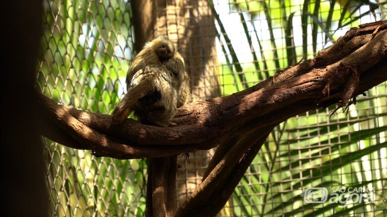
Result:
{"type": "MultiPolygon", "coordinates": [[[[70,136],[67,138],[73,138],[77,141],[74,145],[70,146],[72,148],[89,149],[92,150],[93,154],[96,156],[109,156],[117,159],[143,158],[144,156],[165,157],[186,152],[187,148],[194,151],[190,147],[185,146],[160,147],[155,145],[131,146],[124,144],[115,138],[111,138],[110,136],[100,133],[97,130],[91,129],[85,123],[79,121],[71,115],[71,113],[78,110],[57,105],[54,101],[49,100],[42,94],[38,94],[37,98],[41,102],[39,105],[41,108],[38,109],[42,111],[41,119],[45,120],[46,117],[44,115],[47,115],[49,119],[56,120],[55,122],[58,124],[57,127],[64,130],[66,134],[70,136]]],[[[93,117],[84,114],[82,117],[78,116],[78,118],[88,120],[93,117]]],[[[42,130],[46,130],[46,134],[44,135],[48,138],[60,138],[61,141],[66,139],[61,130],[53,131],[51,129],[47,130],[47,128],[48,127],[44,127],[42,130]],[[58,132],[61,132],[61,134],[58,132]]],[[[71,141],[65,142],[69,143],[71,141]]]]}

